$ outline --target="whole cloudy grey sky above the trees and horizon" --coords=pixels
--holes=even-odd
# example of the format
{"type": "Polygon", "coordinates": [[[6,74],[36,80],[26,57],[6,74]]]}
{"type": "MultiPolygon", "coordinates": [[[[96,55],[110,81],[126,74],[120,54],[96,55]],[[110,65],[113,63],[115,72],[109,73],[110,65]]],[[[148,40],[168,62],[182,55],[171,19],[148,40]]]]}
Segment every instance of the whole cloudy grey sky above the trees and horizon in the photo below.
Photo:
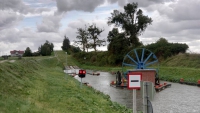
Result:
{"type": "Polygon", "coordinates": [[[61,50],[64,36],[73,42],[77,28],[93,23],[104,29],[99,38],[107,40],[114,27],[107,24],[108,17],[133,2],[153,20],[139,36],[144,45],[163,37],[200,53],[200,0],[0,0],[0,55],[27,47],[35,52],[46,40],[61,50]]]}

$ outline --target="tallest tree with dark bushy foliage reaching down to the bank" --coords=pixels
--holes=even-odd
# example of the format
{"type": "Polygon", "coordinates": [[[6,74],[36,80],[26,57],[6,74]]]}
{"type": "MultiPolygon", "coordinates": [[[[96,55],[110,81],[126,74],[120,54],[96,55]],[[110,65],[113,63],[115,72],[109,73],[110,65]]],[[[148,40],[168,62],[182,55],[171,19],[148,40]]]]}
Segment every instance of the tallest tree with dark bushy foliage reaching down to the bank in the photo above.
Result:
{"type": "Polygon", "coordinates": [[[124,6],[124,12],[114,10],[108,19],[108,25],[113,24],[123,31],[119,33],[118,28],[113,28],[108,33],[109,63],[119,65],[127,52],[142,46],[138,37],[152,21],[151,18],[143,14],[141,9],[138,9],[137,3],[129,3],[124,6]]]}

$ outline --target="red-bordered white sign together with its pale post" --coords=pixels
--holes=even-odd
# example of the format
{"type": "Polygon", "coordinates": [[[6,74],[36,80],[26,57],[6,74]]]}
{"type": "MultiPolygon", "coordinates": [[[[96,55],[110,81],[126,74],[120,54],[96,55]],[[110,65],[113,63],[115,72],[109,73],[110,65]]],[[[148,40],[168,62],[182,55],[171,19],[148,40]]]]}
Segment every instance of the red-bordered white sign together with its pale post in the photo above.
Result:
{"type": "Polygon", "coordinates": [[[137,113],[136,110],[136,89],[140,89],[140,81],[142,80],[142,73],[130,72],[128,74],[128,89],[133,89],[133,113],[137,113]]]}

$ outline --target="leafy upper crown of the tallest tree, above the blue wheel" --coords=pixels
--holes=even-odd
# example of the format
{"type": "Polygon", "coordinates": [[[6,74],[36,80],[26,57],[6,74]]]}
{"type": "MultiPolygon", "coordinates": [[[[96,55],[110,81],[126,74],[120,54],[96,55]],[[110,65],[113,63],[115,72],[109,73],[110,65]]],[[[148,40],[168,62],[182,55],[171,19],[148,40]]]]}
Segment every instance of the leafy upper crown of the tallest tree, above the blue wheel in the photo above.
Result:
{"type": "Polygon", "coordinates": [[[145,31],[147,26],[152,23],[152,19],[143,15],[141,9],[138,10],[137,3],[128,3],[124,6],[124,12],[114,10],[108,19],[108,25],[114,24],[124,30],[125,35],[129,38],[129,45],[138,47],[142,43],[138,36],[145,31]]]}

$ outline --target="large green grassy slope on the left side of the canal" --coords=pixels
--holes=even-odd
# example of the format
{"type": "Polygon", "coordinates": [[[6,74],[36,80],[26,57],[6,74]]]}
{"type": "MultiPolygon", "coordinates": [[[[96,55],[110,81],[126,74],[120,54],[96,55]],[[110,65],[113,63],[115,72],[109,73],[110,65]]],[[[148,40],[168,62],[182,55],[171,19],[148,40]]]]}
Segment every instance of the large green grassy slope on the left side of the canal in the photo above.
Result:
{"type": "MultiPolygon", "coordinates": [[[[68,56],[70,58],[70,56],[68,56]]],[[[56,57],[0,63],[0,113],[129,113],[92,88],[63,73],[64,52],[56,57]]],[[[68,63],[76,63],[68,60],[68,63]]]]}

